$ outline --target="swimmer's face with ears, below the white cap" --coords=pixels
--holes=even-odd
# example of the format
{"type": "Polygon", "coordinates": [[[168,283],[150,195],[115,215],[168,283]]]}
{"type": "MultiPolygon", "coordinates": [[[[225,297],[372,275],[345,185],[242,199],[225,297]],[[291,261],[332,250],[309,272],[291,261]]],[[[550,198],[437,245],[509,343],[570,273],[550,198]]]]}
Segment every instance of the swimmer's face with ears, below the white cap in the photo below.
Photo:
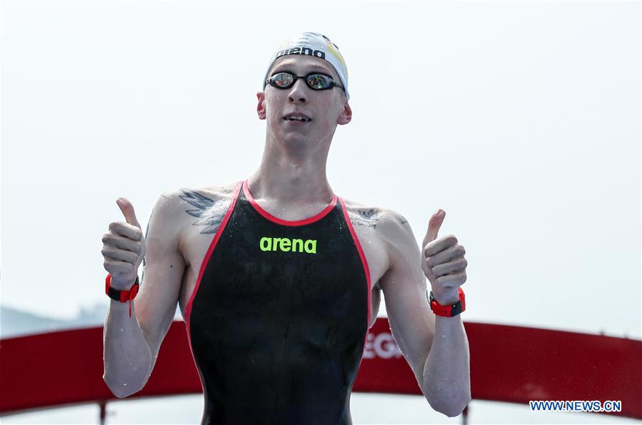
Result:
{"type": "MultiPolygon", "coordinates": [[[[331,64],[311,56],[287,55],[277,59],[268,78],[283,71],[297,76],[321,72],[341,84],[331,64]]],[[[289,143],[314,144],[331,139],[336,124],[348,124],[352,117],[343,89],[314,90],[304,79],[297,79],[288,89],[268,84],[257,96],[259,119],[267,119],[268,131],[275,139],[289,143]],[[286,119],[292,113],[305,114],[311,121],[286,119]]]]}

